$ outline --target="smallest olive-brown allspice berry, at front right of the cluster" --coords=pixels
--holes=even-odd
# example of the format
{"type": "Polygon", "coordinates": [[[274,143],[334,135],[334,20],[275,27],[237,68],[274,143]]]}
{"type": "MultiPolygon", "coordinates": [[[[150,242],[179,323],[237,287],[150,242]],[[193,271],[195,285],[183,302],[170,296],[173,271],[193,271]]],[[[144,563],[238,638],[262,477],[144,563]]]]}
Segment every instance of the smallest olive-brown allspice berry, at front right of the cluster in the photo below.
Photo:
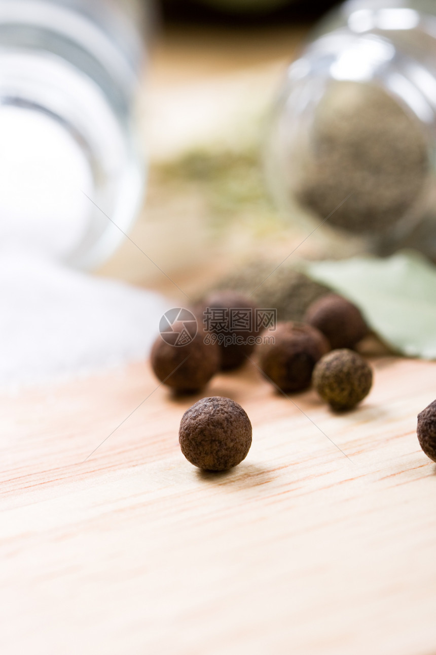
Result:
{"type": "Polygon", "coordinates": [[[352,409],[369,394],[373,371],[357,352],[332,350],[316,364],[313,385],[336,411],[352,409]]]}

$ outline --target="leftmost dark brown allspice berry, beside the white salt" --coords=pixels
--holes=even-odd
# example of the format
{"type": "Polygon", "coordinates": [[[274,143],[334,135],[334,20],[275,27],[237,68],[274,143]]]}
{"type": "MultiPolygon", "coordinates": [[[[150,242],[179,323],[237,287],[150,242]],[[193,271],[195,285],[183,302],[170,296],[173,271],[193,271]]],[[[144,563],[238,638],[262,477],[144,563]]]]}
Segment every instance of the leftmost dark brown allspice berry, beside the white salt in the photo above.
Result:
{"type": "Polygon", "coordinates": [[[220,349],[206,344],[199,330],[190,343],[173,346],[159,336],[152,347],[150,362],[158,379],[177,392],[193,393],[207,384],[220,368],[220,349]]]}

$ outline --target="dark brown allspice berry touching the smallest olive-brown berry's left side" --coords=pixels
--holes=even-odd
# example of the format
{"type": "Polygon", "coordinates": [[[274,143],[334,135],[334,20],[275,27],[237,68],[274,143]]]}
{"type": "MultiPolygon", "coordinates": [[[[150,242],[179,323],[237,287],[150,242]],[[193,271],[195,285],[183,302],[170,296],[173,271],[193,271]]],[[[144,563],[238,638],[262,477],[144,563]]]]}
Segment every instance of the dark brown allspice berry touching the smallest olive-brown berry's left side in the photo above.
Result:
{"type": "Polygon", "coordinates": [[[274,343],[259,348],[263,375],[284,392],[306,389],[318,360],[330,350],[324,335],[304,323],[278,323],[271,332],[274,343]]]}

